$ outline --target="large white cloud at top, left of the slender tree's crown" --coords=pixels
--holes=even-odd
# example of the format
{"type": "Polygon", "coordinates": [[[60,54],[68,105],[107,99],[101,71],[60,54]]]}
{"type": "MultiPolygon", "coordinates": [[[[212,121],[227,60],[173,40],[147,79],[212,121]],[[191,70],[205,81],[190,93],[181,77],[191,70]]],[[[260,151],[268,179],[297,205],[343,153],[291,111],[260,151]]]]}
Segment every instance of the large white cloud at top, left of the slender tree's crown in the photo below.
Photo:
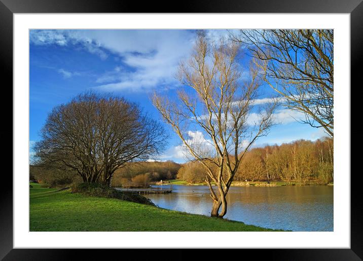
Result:
{"type": "Polygon", "coordinates": [[[103,78],[98,79],[98,83],[105,79],[107,81],[103,81],[105,84],[97,86],[97,89],[139,91],[171,87],[176,83],[172,76],[178,62],[189,55],[194,38],[192,33],[184,30],[168,33],[162,30],[143,30],[128,31],[124,36],[117,45],[110,39],[105,46],[120,55],[123,63],[134,71],[107,72],[103,78]]]}

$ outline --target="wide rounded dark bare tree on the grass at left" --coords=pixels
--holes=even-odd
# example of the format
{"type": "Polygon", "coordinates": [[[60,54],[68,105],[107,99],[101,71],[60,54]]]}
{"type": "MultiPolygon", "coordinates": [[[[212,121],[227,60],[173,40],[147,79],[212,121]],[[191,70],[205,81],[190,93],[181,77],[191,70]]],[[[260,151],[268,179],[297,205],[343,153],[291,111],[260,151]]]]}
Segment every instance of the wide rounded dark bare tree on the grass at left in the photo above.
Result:
{"type": "Polygon", "coordinates": [[[34,146],[41,164],[75,169],[87,182],[110,185],[127,162],[146,160],[165,145],[165,131],[124,98],[81,94],[53,108],[34,146]]]}

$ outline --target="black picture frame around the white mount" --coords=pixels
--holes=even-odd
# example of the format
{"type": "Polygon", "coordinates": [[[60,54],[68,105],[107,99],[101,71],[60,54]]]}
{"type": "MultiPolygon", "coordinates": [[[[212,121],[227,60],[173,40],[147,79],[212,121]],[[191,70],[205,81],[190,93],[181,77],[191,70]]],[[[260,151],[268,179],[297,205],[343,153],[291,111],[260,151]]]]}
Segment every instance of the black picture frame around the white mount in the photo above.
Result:
{"type": "MultiPolygon", "coordinates": [[[[183,3],[155,3],[146,2],[140,4],[136,1],[112,1],[112,0],[0,0],[0,74],[3,80],[3,95],[8,102],[1,102],[3,120],[8,126],[1,128],[0,134],[3,138],[3,145],[6,145],[6,154],[3,156],[3,164],[10,165],[13,151],[12,142],[16,139],[13,136],[13,115],[9,113],[13,97],[13,14],[16,13],[349,13],[350,14],[350,35],[351,35],[351,86],[361,86],[358,64],[362,61],[363,47],[363,3],[362,0],[232,0],[232,1],[184,1],[183,3]],[[170,5],[168,5],[170,3],[170,5]],[[4,82],[4,80],[6,80],[4,82]],[[359,82],[358,82],[359,81],[359,82]],[[7,84],[5,84],[7,83],[7,84]],[[359,83],[359,85],[358,85],[359,83]],[[11,124],[10,124],[11,123],[11,124]],[[11,140],[9,137],[13,137],[11,140]],[[11,150],[9,148],[11,147],[11,150]]],[[[350,88],[350,91],[354,90],[350,88]]],[[[355,92],[355,90],[354,90],[355,92]]],[[[351,95],[359,99],[358,95],[351,95]]],[[[353,100],[351,100],[353,103],[353,100]]],[[[359,103],[359,101],[358,101],[359,103]]],[[[351,113],[353,113],[351,109],[351,113]]],[[[351,119],[354,119],[351,117],[351,119]]],[[[350,126],[351,127],[351,126],[350,126]]],[[[351,130],[351,137],[359,139],[360,132],[351,130]],[[355,134],[355,135],[354,135],[355,134]]],[[[357,146],[357,145],[356,145],[357,146]]],[[[3,151],[4,148],[3,148],[3,151]]],[[[358,155],[351,151],[351,162],[358,155]]],[[[135,249],[13,249],[13,178],[10,171],[4,171],[2,175],[2,197],[0,198],[0,258],[4,260],[69,260],[98,259],[99,256],[110,254],[121,254],[125,252],[133,254],[135,249]]],[[[27,173],[24,173],[24,177],[27,173]]],[[[361,174],[359,172],[347,173],[351,182],[351,248],[350,249],[240,249],[243,256],[252,254],[257,257],[272,260],[362,260],[363,241],[362,225],[363,220],[360,202],[361,174]]],[[[349,181],[349,178],[347,178],[349,181]]],[[[158,249],[137,249],[137,259],[146,256],[160,256],[158,249]]],[[[188,257],[185,249],[173,250],[171,259],[185,259],[188,257]]],[[[217,257],[222,251],[208,250],[208,255],[217,257]]],[[[207,256],[204,256],[207,258],[207,256]]]]}

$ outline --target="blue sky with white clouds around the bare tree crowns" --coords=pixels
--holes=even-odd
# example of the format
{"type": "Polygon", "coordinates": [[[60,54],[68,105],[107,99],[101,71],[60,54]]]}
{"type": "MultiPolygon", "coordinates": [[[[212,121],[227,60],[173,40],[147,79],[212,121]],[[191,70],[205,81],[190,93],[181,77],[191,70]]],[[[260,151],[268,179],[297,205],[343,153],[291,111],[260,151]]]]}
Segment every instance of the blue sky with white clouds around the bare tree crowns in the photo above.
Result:
{"type": "MultiPolygon", "coordinates": [[[[226,34],[226,30],[207,30],[211,39],[226,34]]],[[[188,58],[195,36],[195,30],[30,30],[30,156],[51,109],[88,90],[124,96],[161,120],[149,95],[156,90],[173,96],[183,88],[173,74],[178,62],[188,58]]],[[[264,95],[272,94],[268,86],[263,88],[264,95]]],[[[279,108],[276,119],[281,124],[255,146],[324,135],[321,128],[298,123],[293,117],[302,116],[279,108]]],[[[166,128],[169,144],[159,160],[185,162],[179,139],[166,128]]]]}

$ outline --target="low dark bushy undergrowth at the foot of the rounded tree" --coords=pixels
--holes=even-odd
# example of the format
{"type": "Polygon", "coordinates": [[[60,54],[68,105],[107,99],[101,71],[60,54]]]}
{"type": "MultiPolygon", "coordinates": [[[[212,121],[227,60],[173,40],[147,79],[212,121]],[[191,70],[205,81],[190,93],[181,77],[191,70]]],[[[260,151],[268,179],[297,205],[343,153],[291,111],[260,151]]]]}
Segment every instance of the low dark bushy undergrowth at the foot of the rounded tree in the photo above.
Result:
{"type": "Polygon", "coordinates": [[[150,199],[135,192],[118,191],[100,183],[79,183],[72,187],[71,192],[93,197],[120,199],[155,206],[150,199]]]}

